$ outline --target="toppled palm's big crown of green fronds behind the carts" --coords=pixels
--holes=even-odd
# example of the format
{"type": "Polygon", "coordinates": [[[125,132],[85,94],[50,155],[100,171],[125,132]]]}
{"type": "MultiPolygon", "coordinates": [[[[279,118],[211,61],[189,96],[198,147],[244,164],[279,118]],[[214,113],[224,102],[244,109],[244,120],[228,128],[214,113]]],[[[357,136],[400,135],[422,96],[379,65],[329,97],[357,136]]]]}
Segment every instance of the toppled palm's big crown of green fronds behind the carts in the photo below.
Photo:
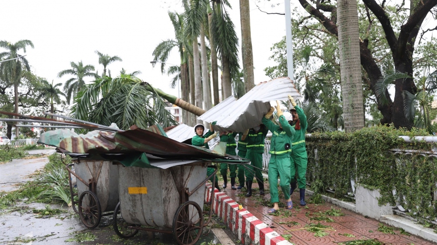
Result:
{"type": "Polygon", "coordinates": [[[149,92],[144,84],[129,75],[99,78],[76,95],[73,117],[103,125],[116,123],[123,130],[132,125],[143,129],[157,123],[163,127],[176,125],[160,94],[149,92]]]}

